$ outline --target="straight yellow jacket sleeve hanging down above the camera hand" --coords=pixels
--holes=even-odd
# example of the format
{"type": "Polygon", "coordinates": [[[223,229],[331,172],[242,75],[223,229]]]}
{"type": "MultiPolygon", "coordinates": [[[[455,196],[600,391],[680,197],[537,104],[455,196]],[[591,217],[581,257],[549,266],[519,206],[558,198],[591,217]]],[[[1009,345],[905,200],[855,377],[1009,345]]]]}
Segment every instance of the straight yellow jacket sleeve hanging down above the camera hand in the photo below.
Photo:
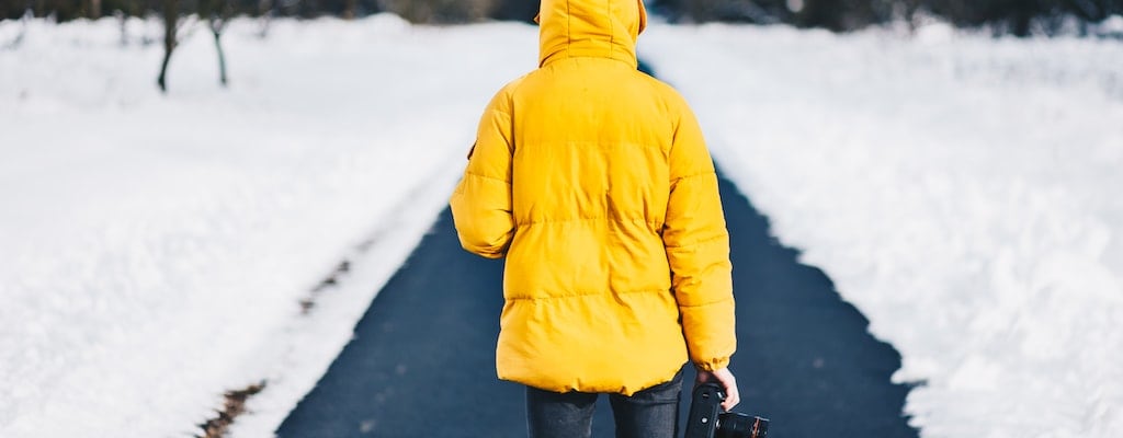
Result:
{"type": "Polygon", "coordinates": [[[668,157],[663,241],[691,361],[713,371],[725,367],[737,350],[729,232],[702,130],[690,108],[682,108],[668,157]]]}

